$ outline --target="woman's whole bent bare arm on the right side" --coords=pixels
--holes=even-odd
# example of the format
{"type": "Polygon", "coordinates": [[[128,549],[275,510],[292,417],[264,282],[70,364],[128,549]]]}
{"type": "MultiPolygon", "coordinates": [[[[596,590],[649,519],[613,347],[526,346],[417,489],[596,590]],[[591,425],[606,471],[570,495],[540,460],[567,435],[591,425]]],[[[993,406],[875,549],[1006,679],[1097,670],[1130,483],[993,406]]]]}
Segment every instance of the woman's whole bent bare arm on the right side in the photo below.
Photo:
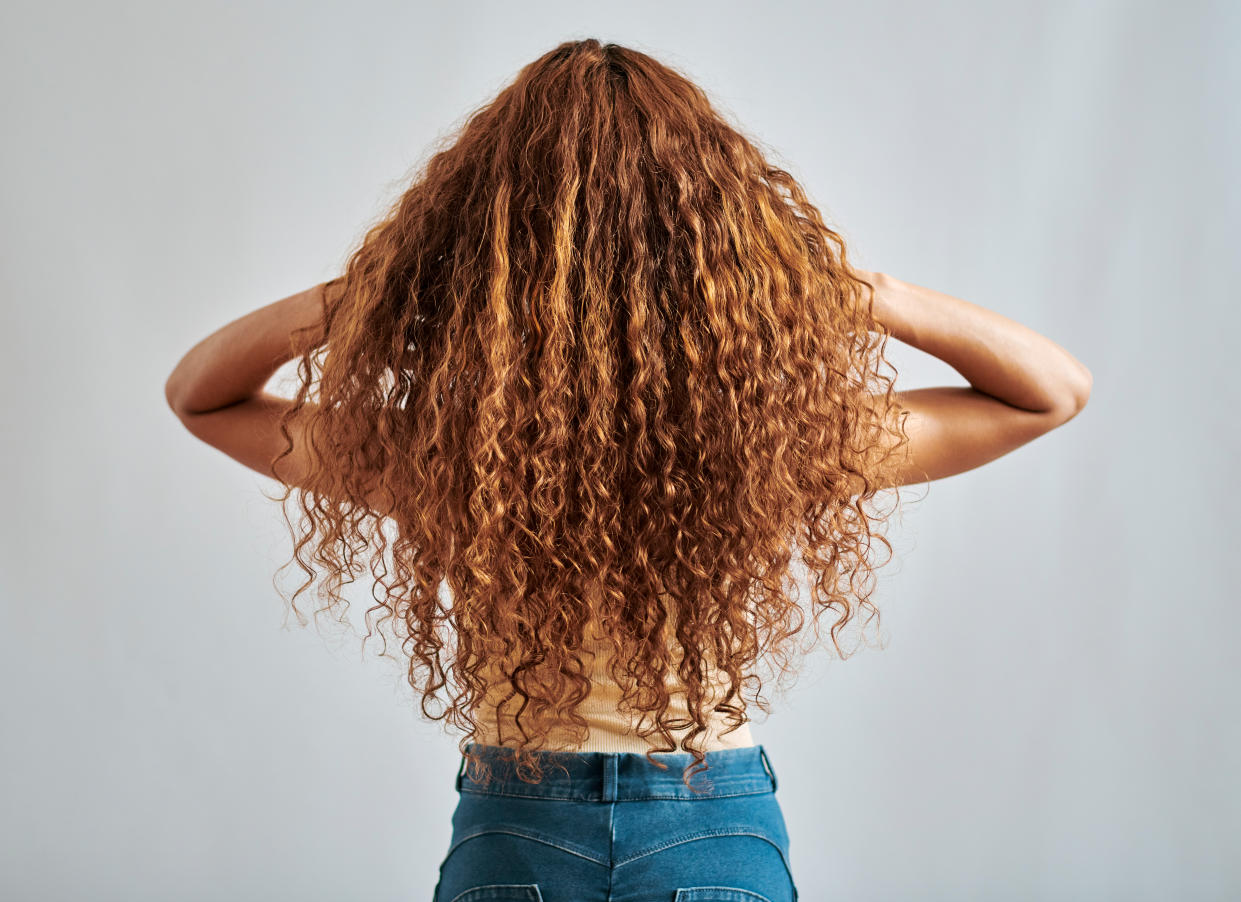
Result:
{"type": "MultiPolygon", "coordinates": [[[[855,270],[875,287],[875,318],[900,341],[931,354],[969,387],[896,392],[910,443],[881,479],[905,485],[994,460],[1072,419],[1092,377],[1069,351],[994,310],[886,275],[855,270]]],[[[892,439],[876,448],[882,457],[892,439]]],[[[861,486],[855,486],[855,493],[861,486]]]]}

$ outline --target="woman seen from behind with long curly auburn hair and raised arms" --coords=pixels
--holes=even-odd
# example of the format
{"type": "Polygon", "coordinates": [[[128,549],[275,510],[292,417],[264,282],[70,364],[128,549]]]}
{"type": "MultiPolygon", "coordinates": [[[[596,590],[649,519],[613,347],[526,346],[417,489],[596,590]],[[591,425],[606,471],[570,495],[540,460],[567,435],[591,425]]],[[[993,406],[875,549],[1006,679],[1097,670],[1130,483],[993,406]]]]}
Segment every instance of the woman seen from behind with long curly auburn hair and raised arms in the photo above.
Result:
{"type": "Polygon", "coordinates": [[[827,610],[841,654],[877,617],[880,490],[993,460],[1090,386],[1025,326],[851,266],[700,88],[585,40],[475,110],[341,275],[166,392],[298,491],[316,613],[369,552],[367,638],[391,628],[462,731],[436,900],[787,902],[762,686],[827,610]],[[969,387],[895,391],[889,336],[969,387]],[[267,393],[293,359],[295,398],[267,393]]]}

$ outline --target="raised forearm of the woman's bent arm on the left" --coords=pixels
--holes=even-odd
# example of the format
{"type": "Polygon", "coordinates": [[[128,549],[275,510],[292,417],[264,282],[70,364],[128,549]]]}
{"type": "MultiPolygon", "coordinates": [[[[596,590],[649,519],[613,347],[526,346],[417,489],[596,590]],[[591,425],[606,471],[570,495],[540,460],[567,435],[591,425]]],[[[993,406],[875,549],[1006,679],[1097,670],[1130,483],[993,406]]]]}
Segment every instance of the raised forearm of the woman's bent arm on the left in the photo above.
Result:
{"type": "Polygon", "coordinates": [[[180,416],[253,397],[292,360],[293,333],[323,320],[323,283],[253,310],[216,330],[181,357],[164,386],[180,416]]]}

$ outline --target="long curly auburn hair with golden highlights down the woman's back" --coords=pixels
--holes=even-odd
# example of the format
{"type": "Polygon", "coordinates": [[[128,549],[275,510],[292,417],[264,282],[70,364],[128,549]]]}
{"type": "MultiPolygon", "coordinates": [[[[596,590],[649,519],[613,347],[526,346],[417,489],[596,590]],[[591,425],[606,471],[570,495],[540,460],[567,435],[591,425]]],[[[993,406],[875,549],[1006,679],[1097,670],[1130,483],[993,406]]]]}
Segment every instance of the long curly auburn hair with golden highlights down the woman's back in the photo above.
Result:
{"type": "Polygon", "coordinates": [[[769,710],[761,666],[793,672],[829,609],[841,656],[879,617],[876,449],[908,439],[872,292],[688,77],[561,43],[433,149],[294,339],[273,460],[299,426],[293,610],[320,582],[315,614],[344,622],[370,560],[366,638],[391,628],[423,716],[484,774],[499,686],[525,780],[557,730],[585,738],[603,648],[648,759],[691,752],[688,783],[712,712],[769,710]]]}

